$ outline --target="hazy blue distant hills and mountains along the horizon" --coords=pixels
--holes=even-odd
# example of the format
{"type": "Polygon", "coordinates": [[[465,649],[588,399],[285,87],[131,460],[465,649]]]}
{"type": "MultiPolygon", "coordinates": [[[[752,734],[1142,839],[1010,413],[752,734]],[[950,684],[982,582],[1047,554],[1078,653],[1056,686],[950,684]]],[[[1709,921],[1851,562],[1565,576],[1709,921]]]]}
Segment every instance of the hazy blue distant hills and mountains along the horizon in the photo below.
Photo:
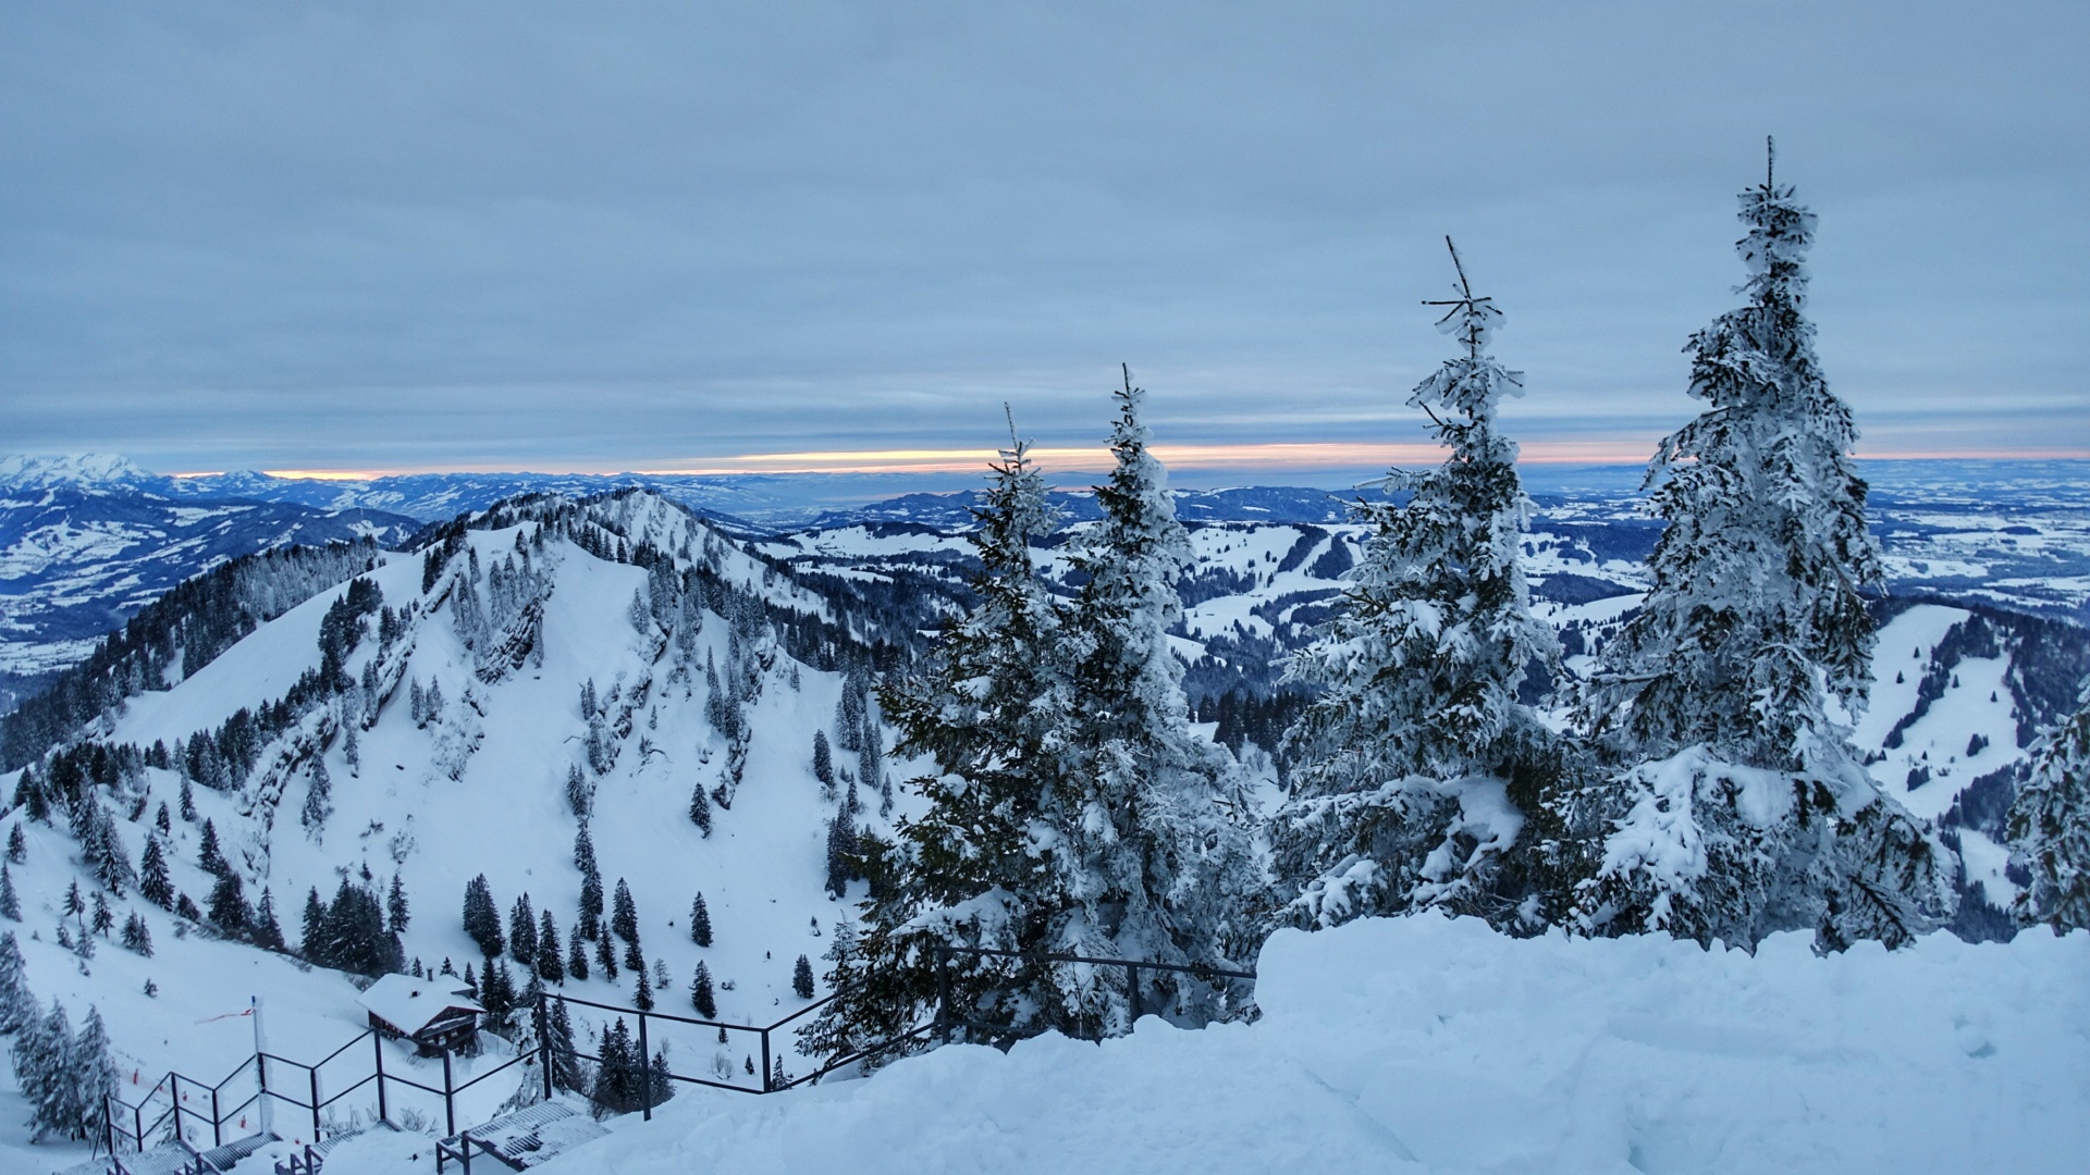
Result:
{"type": "MultiPolygon", "coordinates": [[[[1868,462],[1864,473],[1891,592],[2090,619],[2090,462],[1868,462]]],[[[1639,470],[1532,466],[1526,483],[1538,506],[1528,552],[1568,558],[1540,577],[1545,596],[1572,604],[1641,588],[1634,569],[1659,525],[1641,512],[1639,470]]],[[[961,592],[949,560],[963,558],[963,544],[901,542],[899,531],[968,529],[978,485],[957,475],[165,477],[119,456],[0,458],[0,711],[86,656],[146,600],[215,562],[355,535],[401,544],[418,525],[516,493],[587,498],[648,487],[744,539],[800,535],[805,550],[834,552],[863,527],[890,537],[838,562],[890,577],[901,565],[928,560],[934,567],[915,571],[961,592]],[[949,489],[922,491],[924,481],[949,489]],[[874,552],[872,562],[884,569],[859,562],[874,552]]],[[[1294,529],[1292,542],[1296,527],[1342,529],[1350,504],[1369,493],[1258,485],[1179,489],[1175,498],[1193,527],[1294,529]]],[[[1068,525],[1097,516],[1085,489],[1060,489],[1053,502],[1068,525]]],[[[1193,579],[1208,571],[1193,569],[1193,579]]]]}

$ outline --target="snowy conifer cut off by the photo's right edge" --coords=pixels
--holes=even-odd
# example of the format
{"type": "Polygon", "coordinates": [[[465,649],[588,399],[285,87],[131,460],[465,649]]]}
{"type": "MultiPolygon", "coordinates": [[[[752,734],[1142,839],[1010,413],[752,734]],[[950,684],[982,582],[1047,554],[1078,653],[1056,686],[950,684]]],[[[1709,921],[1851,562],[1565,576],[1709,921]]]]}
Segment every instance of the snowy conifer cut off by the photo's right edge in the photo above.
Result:
{"type": "Polygon", "coordinates": [[[2046,736],[2011,805],[2011,847],[2031,882],[2015,914],[2057,935],[2090,926],[2090,690],[2046,736]]]}

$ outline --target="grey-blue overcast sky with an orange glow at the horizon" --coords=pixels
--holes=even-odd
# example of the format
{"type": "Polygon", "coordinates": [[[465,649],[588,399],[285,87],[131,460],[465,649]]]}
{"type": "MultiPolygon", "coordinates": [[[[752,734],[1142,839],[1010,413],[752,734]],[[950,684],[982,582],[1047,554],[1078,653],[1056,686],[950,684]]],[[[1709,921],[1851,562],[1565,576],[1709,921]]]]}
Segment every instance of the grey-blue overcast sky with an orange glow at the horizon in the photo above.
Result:
{"type": "MultiPolygon", "coordinates": [[[[165,470],[1639,462],[1820,213],[1860,456],[2090,456],[2090,6],[13,4],[0,452],[165,470]],[[1091,462],[1093,464],[1093,462],[1091,462]]],[[[1271,477],[1275,479],[1275,477],[1271,477]]]]}

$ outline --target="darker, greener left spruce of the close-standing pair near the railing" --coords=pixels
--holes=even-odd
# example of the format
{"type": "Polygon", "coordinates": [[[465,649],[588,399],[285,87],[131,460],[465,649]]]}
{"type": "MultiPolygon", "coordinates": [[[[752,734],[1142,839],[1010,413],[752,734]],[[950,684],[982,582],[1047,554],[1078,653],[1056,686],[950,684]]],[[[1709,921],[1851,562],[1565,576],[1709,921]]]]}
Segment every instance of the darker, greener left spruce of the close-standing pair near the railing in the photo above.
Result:
{"type": "MultiPolygon", "coordinates": [[[[1074,696],[1055,652],[1062,613],[1030,550],[1055,516],[1028,443],[1012,437],[991,468],[974,510],[978,602],[918,675],[884,688],[895,755],[926,755],[938,774],[909,780],[926,811],[899,822],[899,840],[869,843],[863,932],[836,951],[828,983],[840,995],[803,1033],[819,1054],[915,1029],[938,993],[938,947],[1051,949],[1074,905],[1055,861],[1064,820],[1049,815],[1070,794],[1064,725],[1074,696]]],[[[1055,985],[1012,962],[968,955],[951,983],[955,997],[999,999],[1014,1020],[1070,1014],[1055,985]]]]}

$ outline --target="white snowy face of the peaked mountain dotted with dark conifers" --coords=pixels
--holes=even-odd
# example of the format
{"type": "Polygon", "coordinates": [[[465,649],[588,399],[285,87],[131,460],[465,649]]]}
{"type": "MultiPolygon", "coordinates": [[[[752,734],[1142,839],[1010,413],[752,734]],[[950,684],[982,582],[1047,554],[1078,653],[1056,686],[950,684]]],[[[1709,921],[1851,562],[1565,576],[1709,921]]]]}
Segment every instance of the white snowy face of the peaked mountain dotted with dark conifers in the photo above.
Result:
{"type": "MultiPolygon", "coordinates": [[[[541,500],[510,510],[491,529],[456,529],[449,548],[439,550],[451,554],[426,592],[420,556],[391,554],[366,577],[399,617],[399,633],[385,642],[374,617],[359,621],[364,636],[343,659],[355,686],[301,713],[255,755],[236,788],[192,788],[196,820],[173,820],[176,889],[207,903],[213,878],[199,859],[205,820],[247,897],[270,893],[293,941],[307,891],[326,899],[343,878],[366,884],[368,870],[368,884],[382,893],[397,874],[412,903],[405,958],[428,972],[445,962],[462,972],[483,962],[460,922],[464,886],[479,874],[489,878],[504,926],[510,905],[527,893],[535,909],[552,912],[562,937],[573,932],[581,874],[568,776],[579,771],[591,790],[589,832],[604,886],[629,884],[644,958],[648,966],[665,964],[671,976],[654,993],[663,1010],[690,1008],[698,960],[717,978],[721,1018],[771,1022],[803,1006],[792,993],[796,958],[817,960],[836,918],[855,909],[823,893],[826,826],[844,792],[823,792],[811,759],[813,732],[834,732],[842,669],[865,654],[865,621],[842,617],[648,493],[587,506],[541,500]],[[568,535],[591,537],[577,544],[568,535]],[[644,548],[640,558],[660,562],[619,562],[583,546],[644,548]],[[702,598],[723,615],[669,604],[673,619],[663,623],[644,604],[633,608],[635,598],[648,600],[667,581],[700,581],[702,598]],[[798,627],[786,631],[786,619],[798,627]],[[792,648],[817,654],[798,661],[792,648]],[[717,688],[742,700],[742,736],[721,732],[706,713],[713,671],[723,679],[717,688]],[[600,700],[594,723],[579,709],[589,682],[600,700]],[[416,721],[412,694],[424,690],[439,690],[445,702],[439,717],[416,721]],[[347,755],[351,730],[357,763],[347,755]],[[322,765],[332,811],[307,826],[301,815],[322,765]],[[709,834],[690,817],[696,788],[721,797],[709,834]],[[690,937],[698,893],[711,912],[711,947],[690,937]]],[[[171,690],[134,696],[104,725],[102,740],[176,746],[238,711],[259,713],[320,665],[322,621],[345,594],[347,585],[322,592],[171,690]]],[[[855,757],[840,763],[855,771],[855,757]]],[[[159,805],[178,807],[180,788],[178,771],[146,767],[119,788],[121,797],[111,797],[132,861],[159,805]],[[125,822],[123,811],[136,817],[125,822]]],[[[886,828],[878,782],[865,780],[857,794],[857,820],[886,828]]],[[[117,922],[130,909],[146,918],[159,949],[153,960],[111,941],[98,943],[94,960],[61,949],[59,903],[67,884],[84,878],[79,847],[63,832],[63,811],[56,830],[23,826],[29,861],[15,866],[23,924],[0,928],[23,939],[40,997],[61,997],[75,1014],[100,1006],[125,1073],[146,1073],[150,1083],[169,1064],[184,1073],[230,1070],[240,1031],[219,1047],[213,1041],[226,1033],[192,1027],[236,1012],[253,993],[270,999],[274,1052],[320,1056],[359,1031],[355,989],[339,972],[207,941],[203,932],[182,937],[178,920],[140,901],[136,889],[119,903],[117,922]],[[146,978],[159,987],[153,999],[140,995],[146,978]]],[[[855,891],[861,897],[861,882],[855,891]]],[[[596,970],[587,981],[568,978],[564,991],[629,1004],[633,978],[623,970],[612,983],[596,970]]],[[[591,1031],[589,1016],[577,1020],[581,1033],[591,1031]]],[[[656,1029],[654,1043],[675,1047],[686,1070],[738,1070],[746,1060],[746,1041],[725,1056],[711,1037],[679,1039],[656,1029]]],[[[782,1037],[777,1043],[788,1045],[782,1037]]],[[[784,1060],[803,1070],[792,1054],[784,1060]]],[[[508,1091],[512,1085],[497,1093],[508,1091]]],[[[491,1102],[477,1110],[491,1112],[491,1102]]]]}

